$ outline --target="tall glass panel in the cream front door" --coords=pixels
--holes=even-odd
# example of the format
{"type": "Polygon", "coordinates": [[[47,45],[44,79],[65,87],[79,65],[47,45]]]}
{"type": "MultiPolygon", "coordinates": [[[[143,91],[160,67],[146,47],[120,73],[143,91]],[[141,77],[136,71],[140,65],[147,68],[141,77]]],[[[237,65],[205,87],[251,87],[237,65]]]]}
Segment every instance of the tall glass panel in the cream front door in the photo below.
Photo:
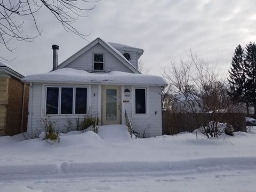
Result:
{"type": "Polygon", "coordinates": [[[116,121],[117,105],[116,105],[116,90],[106,90],[106,120],[116,121]]]}

